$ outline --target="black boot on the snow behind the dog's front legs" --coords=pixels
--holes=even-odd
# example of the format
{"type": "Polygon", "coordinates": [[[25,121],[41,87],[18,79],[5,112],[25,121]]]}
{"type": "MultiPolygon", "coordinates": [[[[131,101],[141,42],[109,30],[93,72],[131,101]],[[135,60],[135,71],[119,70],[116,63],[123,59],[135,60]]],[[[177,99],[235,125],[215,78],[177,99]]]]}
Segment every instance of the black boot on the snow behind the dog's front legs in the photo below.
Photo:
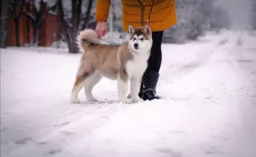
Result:
{"type": "Polygon", "coordinates": [[[139,97],[143,100],[160,99],[160,96],[156,95],[155,88],[158,82],[159,73],[154,71],[145,72],[143,76],[143,82],[140,89],[139,97]]]}

